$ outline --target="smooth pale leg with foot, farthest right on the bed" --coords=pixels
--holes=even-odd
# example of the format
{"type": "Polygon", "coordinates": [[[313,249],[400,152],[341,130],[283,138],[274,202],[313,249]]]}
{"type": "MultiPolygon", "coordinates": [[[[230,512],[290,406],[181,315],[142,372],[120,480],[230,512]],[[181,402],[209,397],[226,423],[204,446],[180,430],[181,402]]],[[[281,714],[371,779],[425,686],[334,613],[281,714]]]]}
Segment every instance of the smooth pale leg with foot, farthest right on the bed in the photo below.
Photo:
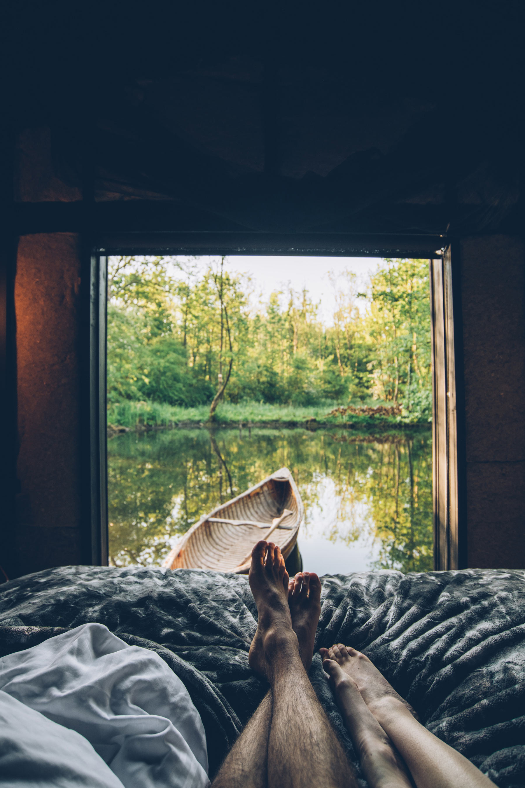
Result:
{"type": "MultiPolygon", "coordinates": [[[[339,643],[321,649],[357,684],[364,702],[397,748],[417,788],[490,788],[488,777],[423,727],[367,656],[339,643]]],[[[327,668],[329,668],[327,663],[327,668]]]]}

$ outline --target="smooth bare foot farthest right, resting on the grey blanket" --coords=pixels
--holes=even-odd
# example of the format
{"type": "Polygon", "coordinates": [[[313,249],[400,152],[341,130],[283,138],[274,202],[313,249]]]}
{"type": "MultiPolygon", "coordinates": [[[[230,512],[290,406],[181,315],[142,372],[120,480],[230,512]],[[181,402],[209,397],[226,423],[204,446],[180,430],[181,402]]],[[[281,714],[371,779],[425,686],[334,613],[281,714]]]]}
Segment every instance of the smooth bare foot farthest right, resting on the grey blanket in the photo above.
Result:
{"type": "Polygon", "coordinates": [[[320,655],[323,657],[323,660],[335,660],[339,667],[342,668],[342,671],[350,678],[353,678],[364,702],[375,718],[379,719],[379,722],[381,721],[381,707],[385,698],[395,698],[397,701],[400,701],[418,719],[412,706],[386,681],[386,678],[368,659],[368,656],[364,656],[356,649],[342,645],[342,643],[333,645],[330,649],[320,649],[320,655]]]}

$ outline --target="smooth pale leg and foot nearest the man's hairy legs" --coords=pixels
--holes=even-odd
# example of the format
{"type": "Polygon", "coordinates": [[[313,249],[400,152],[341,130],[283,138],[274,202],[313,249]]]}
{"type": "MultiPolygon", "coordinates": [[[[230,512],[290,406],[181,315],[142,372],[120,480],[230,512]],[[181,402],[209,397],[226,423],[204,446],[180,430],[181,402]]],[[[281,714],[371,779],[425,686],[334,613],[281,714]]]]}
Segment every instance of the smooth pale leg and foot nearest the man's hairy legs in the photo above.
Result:
{"type": "Polygon", "coordinates": [[[409,788],[412,783],[405,764],[365,704],[356,682],[335,660],[325,659],[323,667],[330,675],[335,699],[370,788],[409,788]]]}

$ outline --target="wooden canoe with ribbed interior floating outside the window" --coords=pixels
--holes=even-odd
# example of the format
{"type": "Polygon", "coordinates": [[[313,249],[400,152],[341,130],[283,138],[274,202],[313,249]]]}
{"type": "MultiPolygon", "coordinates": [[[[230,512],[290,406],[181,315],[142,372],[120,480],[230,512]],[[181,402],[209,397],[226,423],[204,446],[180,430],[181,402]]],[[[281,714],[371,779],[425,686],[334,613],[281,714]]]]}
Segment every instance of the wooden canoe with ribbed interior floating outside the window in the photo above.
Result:
{"type": "Polygon", "coordinates": [[[279,545],[287,559],[304,516],[294,478],[287,468],[281,468],[203,515],[175,545],[163,567],[246,574],[253,545],[266,537],[272,524],[269,541],[279,545]]]}

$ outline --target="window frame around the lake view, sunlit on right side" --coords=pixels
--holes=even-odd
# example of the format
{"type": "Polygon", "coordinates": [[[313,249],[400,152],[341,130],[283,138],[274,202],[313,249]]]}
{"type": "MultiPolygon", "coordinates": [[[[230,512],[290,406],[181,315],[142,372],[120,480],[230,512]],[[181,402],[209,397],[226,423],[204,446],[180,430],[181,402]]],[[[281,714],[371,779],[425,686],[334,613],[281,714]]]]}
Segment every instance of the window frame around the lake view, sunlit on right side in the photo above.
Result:
{"type": "Polygon", "coordinates": [[[239,232],[122,232],[100,236],[91,253],[91,560],[108,565],[107,258],[110,255],[309,255],[427,258],[431,280],[434,570],[464,566],[466,531],[460,473],[463,433],[459,288],[451,247],[441,236],[270,235],[239,232]],[[459,407],[459,411],[458,411],[459,407]]]}

